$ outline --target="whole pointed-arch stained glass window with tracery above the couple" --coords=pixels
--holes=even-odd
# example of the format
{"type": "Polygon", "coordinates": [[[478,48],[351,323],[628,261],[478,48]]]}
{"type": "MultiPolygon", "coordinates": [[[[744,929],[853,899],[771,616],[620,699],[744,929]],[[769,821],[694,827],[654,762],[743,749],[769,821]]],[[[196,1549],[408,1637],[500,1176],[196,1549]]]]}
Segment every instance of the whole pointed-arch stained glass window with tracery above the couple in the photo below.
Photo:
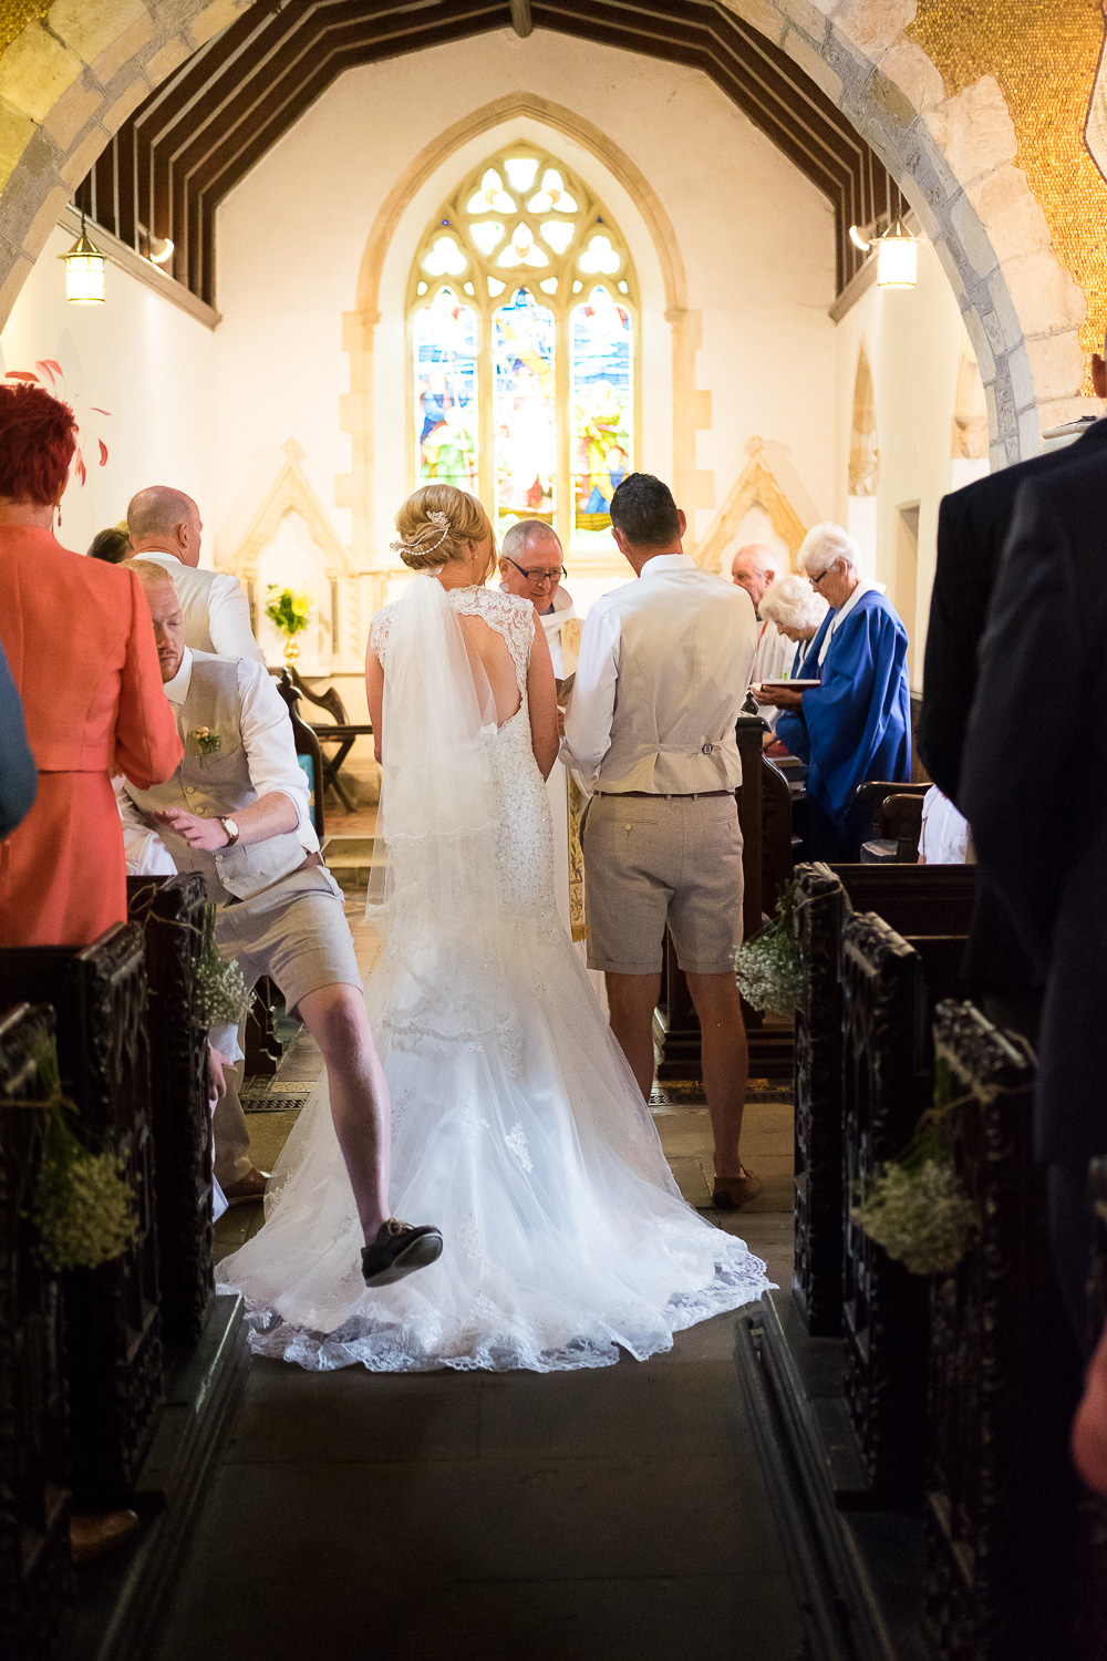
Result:
{"type": "Polygon", "coordinates": [[[604,204],[558,156],[510,145],[441,204],[412,267],[415,478],[611,550],[634,468],[637,284],[604,204]]]}

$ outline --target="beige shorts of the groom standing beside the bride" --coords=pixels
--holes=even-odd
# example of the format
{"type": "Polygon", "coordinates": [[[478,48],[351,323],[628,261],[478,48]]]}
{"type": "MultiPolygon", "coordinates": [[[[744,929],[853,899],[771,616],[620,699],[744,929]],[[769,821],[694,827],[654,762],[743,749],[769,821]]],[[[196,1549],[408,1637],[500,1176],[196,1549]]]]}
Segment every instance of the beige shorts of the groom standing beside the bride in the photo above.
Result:
{"type": "Polygon", "coordinates": [[[588,967],[724,975],[742,943],[742,832],[734,796],[596,796],[584,821],[588,967]]]}

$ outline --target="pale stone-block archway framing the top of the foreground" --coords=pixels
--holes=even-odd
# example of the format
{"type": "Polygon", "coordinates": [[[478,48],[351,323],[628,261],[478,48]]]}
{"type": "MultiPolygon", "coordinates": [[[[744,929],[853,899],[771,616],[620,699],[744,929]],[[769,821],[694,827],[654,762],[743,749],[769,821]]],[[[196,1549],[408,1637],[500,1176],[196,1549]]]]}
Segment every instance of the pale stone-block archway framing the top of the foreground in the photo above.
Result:
{"type": "MultiPolygon", "coordinates": [[[[30,0],[0,32],[0,322],[108,140],[249,3],[30,0]]],[[[984,384],[992,462],[1032,453],[1039,415],[1051,424],[1085,409],[1077,397],[1085,302],[1014,166],[1014,125],[996,80],[984,75],[946,96],[941,73],[906,33],[916,0],[695,7],[712,10],[735,13],[780,47],[885,161],[961,306],[984,384]]],[[[672,12],[687,20],[684,3],[674,0],[672,12]]],[[[488,27],[498,27],[491,15],[488,27]]],[[[408,47],[418,40],[412,33],[408,47]]],[[[654,42],[651,50],[666,48],[654,42]]],[[[675,37],[671,50],[679,55],[675,37]]]]}

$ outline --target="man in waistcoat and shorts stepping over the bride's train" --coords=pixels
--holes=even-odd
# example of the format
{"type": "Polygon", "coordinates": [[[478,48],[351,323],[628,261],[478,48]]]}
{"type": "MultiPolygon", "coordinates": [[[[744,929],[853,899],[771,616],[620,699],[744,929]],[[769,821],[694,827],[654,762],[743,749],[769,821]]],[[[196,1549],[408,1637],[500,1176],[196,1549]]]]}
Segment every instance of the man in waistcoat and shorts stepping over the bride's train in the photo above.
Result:
{"type": "MultiPolygon", "coordinates": [[[[126,566],[149,601],[184,759],[151,791],[124,784],[124,821],[156,829],[178,870],[202,872],[207,897],[219,907],[216,943],[222,957],[237,958],[247,987],[271,975],[289,1012],[319,1043],[365,1234],[362,1272],[368,1286],[397,1281],[440,1256],[441,1234],[388,1216],[388,1086],[368,1028],[342,890],[310,827],[287,711],[264,664],[184,644],[184,618],[168,571],[146,560],[128,560],[126,566]]],[[[242,1134],[249,1144],[246,1121],[242,1134]]]]}

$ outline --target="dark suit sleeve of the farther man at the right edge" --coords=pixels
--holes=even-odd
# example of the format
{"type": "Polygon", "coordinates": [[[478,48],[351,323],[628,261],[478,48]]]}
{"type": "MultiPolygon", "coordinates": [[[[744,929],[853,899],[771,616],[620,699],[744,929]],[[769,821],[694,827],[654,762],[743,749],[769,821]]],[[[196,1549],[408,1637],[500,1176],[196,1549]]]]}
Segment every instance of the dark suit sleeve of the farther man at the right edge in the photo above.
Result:
{"type": "Polygon", "coordinates": [[[961,806],[964,731],[976,688],[976,651],[984,630],[984,606],[969,593],[968,565],[983,550],[966,535],[966,507],[946,497],[938,510],[938,568],[926,631],[919,754],[926,771],[961,806]]]}

